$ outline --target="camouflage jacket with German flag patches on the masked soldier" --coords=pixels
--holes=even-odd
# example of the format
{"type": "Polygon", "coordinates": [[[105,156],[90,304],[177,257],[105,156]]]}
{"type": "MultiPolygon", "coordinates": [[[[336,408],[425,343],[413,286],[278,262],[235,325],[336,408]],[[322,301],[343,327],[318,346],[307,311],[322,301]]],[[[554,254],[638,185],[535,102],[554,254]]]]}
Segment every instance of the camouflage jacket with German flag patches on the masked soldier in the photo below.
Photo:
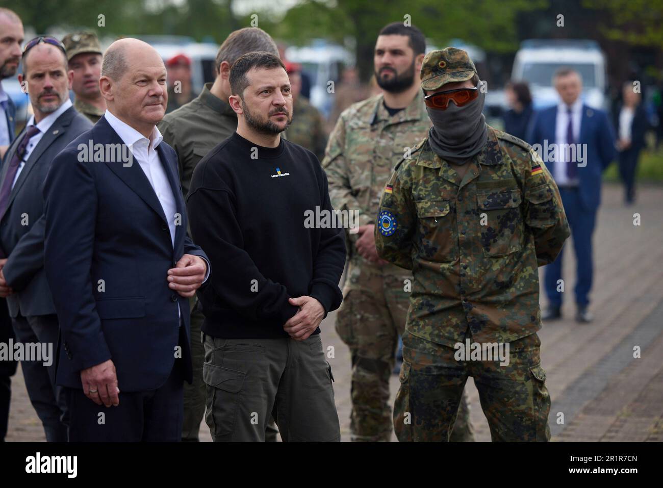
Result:
{"type": "Polygon", "coordinates": [[[560,193],[531,147],[489,127],[465,176],[424,139],[383,189],[379,255],[414,275],[406,329],[453,347],[541,328],[538,267],[570,235],[560,193]]]}

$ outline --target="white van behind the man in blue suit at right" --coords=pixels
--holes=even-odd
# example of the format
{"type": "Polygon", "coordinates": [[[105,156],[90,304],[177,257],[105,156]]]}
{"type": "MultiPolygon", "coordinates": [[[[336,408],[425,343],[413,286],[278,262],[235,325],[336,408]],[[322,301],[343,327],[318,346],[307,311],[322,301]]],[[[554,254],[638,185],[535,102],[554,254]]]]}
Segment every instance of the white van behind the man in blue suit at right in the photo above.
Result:
{"type": "Polygon", "coordinates": [[[582,76],[584,103],[608,109],[605,64],[605,55],[593,40],[524,40],[513,62],[511,80],[529,84],[535,109],[550,107],[559,103],[552,76],[558,68],[569,66],[582,76]]]}

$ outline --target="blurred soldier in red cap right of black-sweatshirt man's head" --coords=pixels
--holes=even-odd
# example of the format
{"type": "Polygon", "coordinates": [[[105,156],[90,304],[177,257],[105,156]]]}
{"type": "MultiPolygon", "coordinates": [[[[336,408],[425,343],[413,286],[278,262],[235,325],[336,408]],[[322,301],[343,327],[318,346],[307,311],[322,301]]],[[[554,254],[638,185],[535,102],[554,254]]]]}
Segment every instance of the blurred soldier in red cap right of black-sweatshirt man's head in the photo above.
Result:
{"type": "Polygon", "coordinates": [[[327,145],[325,119],[316,107],[311,105],[302,91],[302,66],[287,62],[286,72],[290,77],[292,94],[292,123],[288,125],[288,141],[305,147],[322,161],[327,145]]]}

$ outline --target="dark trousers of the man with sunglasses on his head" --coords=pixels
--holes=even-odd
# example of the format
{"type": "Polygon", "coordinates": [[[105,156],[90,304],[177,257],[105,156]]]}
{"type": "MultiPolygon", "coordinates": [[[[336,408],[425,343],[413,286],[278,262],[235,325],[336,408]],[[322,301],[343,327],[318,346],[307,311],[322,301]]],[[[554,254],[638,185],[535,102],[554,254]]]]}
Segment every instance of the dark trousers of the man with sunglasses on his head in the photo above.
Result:
{"type": "Polygon", "coordinates": [[[62,394],[62,387],[55,385],[55,355],[60,332],[58,316],[52,314],[24,317],[19,314],[13,319],[13,325],[17,341],[23,344],[36,342],[52,344],[49,366],[44,366],[44,361],[21,361],[21,370],[30,403],[44,426],[46,441],[67,442],[67,428],[62,422],[66,416],[67,404],[62,394]]]}

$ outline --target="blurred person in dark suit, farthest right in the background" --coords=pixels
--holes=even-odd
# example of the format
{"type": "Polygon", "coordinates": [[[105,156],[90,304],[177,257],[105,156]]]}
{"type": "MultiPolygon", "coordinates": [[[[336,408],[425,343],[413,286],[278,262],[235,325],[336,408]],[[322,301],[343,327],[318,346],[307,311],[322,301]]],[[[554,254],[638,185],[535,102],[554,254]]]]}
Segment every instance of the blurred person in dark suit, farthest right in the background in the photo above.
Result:
{"type": "Polygon", "coordinates": [[[635,200],[635,170],[644,147],[644,135],[649,130],[647,112],[640,103],[640,92],[634,91],[633,82],[623,87],[621,106],[615,111],[617,149],[619,151],[619,175],[624,182],[625,201],[635,200]]]}

